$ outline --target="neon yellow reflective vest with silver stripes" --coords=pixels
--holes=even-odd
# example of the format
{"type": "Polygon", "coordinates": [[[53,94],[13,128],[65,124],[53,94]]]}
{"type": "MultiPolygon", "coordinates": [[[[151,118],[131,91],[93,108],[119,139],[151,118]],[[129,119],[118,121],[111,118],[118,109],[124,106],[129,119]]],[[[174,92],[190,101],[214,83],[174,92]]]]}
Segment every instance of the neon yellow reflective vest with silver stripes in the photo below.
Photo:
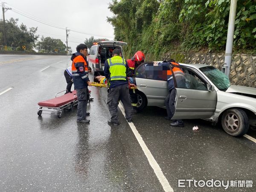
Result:
{"type": "Polygon", "coordinates": [[[108,59],[110,81],[126,80],[125,59],[119,55],[108,59]]]}

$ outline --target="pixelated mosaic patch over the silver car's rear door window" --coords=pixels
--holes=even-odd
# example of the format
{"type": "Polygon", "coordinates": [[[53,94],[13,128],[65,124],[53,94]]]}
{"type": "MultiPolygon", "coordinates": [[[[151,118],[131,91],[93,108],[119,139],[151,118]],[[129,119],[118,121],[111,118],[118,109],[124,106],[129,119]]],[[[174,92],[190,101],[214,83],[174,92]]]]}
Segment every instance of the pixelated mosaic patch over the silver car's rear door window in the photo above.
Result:
{"type": "Polygon", "coordinates": [[[167,81],[167,70],[166,66],[159,66],[153,63],[145,64],[147,79],[167,81]]]}

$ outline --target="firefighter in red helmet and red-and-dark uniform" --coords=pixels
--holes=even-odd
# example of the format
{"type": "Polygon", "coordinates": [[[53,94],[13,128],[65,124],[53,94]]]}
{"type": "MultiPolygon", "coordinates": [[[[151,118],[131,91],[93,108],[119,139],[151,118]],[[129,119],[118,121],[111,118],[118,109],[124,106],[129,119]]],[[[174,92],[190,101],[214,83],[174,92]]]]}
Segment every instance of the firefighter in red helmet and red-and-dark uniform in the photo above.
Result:
{"type": "MultiPolygon", "coordinates": [[[[145,55],[142,51],[137,51],[134,56],[131,59],[127,60],[128,63],[128,77],[132,78],[133,80],[135,80],[135,70],[136,68],[143,63],[145,60],[145,55]]],[[[135,81],[134,81],[135,82],[135,81]]],[[[135,90],[129,90],[129,94],[131,97],[131,105],[133,107],[133,111],[134,113],[137,113],[137,103],[138,103],[138,98],[137,98],[137,94],[135,90]]]]}

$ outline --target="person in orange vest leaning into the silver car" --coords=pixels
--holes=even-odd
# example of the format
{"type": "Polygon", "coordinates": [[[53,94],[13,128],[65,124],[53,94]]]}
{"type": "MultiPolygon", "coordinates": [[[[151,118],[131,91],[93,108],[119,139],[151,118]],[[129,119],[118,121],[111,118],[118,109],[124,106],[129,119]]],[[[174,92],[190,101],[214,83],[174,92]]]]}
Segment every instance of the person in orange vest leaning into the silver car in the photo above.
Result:
{"type": "MultiPolygon", "coordinates": [[[[173,59],[170,59],[167,62],[164,61],[163,63],[160,63],[159,65],[169,67],[169,64],[179,65],[173,59]]],[[[178,67],[172,67],[172,71],[175,76],[177,87],[184,87],[185,86],[185,77],[184,77],[183,70],[178,67]]],[[[184,122],[182,121],[182,119],[172,120],[172,117],[175,113],[175,98],[176,98],[175,83],[174,83],[172,71],[170,69],[167,70],[168,95],[166,96],[166,99],[165,99],[167,116],[165,116],[164,118],[167,120],[171,120],[172,122],[170,125],[173,127],[184,127],[184,122]]]]}

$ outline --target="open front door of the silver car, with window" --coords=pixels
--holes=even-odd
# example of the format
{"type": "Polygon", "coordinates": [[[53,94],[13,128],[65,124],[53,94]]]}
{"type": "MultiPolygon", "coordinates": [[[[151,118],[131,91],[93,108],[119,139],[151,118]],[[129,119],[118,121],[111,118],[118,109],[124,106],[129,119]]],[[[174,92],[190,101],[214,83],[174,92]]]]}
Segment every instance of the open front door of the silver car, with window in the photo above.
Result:
{"type": "MultiPolygon", "coordinates": [[[[176,66],[175,66],[176,67],[176,66]]],[[[210,118],[216,109],[217,93],[212,90],[197,71],[180,67],[184,72],[183,81],[175,76],[176,103],[172,119],[210,118]]]]}

